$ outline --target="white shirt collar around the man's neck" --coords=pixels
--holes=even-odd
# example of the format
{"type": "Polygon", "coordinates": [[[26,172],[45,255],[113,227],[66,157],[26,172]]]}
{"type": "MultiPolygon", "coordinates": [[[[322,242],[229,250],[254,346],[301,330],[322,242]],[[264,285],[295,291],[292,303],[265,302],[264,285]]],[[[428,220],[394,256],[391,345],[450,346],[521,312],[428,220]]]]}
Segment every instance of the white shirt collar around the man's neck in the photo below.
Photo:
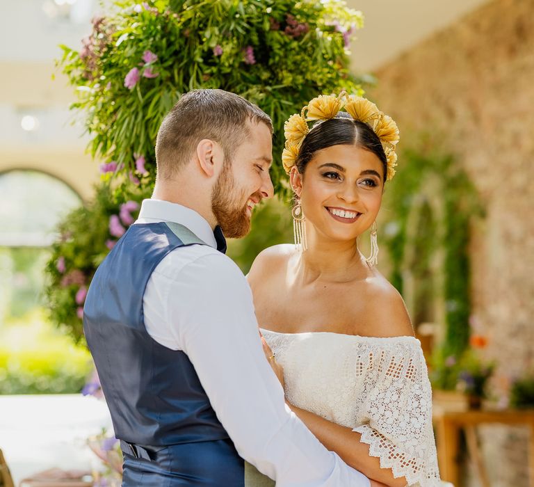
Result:
{"type": "Polygon", "coordinates": [[[194,209],[163,200],[143,200],[136,223],[172,221],[184,225],[210,247],[218,248],[209,223],[194,209]]]}

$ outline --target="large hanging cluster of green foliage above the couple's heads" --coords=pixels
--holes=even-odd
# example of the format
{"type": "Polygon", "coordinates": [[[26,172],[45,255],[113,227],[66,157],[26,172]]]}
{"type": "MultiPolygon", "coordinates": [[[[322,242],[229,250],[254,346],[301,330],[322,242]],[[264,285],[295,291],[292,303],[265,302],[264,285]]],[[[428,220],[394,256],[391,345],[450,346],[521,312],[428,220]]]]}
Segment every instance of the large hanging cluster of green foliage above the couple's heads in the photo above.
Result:
{"type": "Polygon", "coordinates": [[[117,161],[119,172],[135,170],[134,154],[143,155],[152,184],[164,115],[186,91],[222,88],[273,119],[273,181],[286,192],[284,121],[318,94],[361,93],[346,42],[362,23],[341,0],[115,0],[80,51],[62,47],[59,64],[79,95],[73,108],[92,136],[92,155],[117,161]],[[143,60],[146,51],[157,59],[143,60]],[[133,68],[140,79],[127,88],[133,68]]]}

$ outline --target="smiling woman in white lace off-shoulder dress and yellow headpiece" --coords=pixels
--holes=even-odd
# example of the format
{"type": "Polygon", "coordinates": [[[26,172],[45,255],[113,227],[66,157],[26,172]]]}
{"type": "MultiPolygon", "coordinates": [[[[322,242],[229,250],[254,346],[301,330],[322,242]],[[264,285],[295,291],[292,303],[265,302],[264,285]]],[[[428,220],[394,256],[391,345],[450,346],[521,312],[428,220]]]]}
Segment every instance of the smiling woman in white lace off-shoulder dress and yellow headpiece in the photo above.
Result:
{"type": "MultiPolygon", "coordinates": [[[[348,465],[387,486],[437,486],[421,344],[375,267],[396,124],[364,98],[322,95],[285,133],[296,246],[264,250],[248,275],[266,356],[288,406],[348,465]],[[357,239],[369,229],[365,258],[357,239]]],[[[268,485],[251,470],[247,485],[268,485]]]]}

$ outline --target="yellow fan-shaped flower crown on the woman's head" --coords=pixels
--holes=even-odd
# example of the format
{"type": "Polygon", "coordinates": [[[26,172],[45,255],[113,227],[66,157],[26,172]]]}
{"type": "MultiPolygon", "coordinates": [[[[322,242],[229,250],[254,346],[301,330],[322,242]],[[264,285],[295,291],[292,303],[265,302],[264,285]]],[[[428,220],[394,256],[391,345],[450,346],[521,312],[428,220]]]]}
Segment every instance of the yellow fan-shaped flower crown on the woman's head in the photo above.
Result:
{"type": "Polygon", "coordinates": [[[314,120],[330,120],[334,118],[341,109],[354,119],[364,122],[380,138],[382,147],[387,157],[387,175],[389,181],[395,175],[397,165],[397,154],[395,146],[399,141],[398,128],[394,120],[385,115],[377,106],[369,102],[368,99],[347,95],[342,91],[339,96],[319,95],[312,99],[300,112],[291,115],[284,123],[284,135],[286,144],[282,152],[282,164],[286,173],[289,174],[295,165],[302,141],[309,133],[308,122],[314,120]],[[306,113],[307,112],[307,113],[306,113]]]}

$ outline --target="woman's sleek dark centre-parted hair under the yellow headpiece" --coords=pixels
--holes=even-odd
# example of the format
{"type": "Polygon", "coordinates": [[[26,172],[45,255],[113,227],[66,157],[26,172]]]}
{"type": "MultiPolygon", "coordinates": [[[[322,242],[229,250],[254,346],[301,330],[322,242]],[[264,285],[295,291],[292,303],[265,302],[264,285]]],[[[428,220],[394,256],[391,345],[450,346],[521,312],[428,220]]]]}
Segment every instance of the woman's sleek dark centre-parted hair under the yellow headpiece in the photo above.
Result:
{"type": "Polygon", "coordinates": [[[340,111],[335,118],[317,122],[302,141],[298,152],[296,166],[300,174],[304,174],[307,163],[318,150],[332,145],[359,145],[380,159],[384,168],[384,182],[387,176],[387,158],[380,143],[380,138],[373,129],[364,122],[354,120],[348,113],[340,111]]]}

